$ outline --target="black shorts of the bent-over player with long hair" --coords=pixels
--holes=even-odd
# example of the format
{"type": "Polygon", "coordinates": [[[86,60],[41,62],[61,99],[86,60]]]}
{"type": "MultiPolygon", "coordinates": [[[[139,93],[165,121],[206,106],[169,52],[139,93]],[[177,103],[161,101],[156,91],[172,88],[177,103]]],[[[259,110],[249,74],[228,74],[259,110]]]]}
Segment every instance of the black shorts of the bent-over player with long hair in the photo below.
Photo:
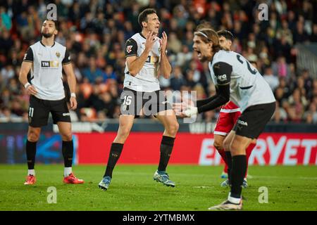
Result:
{"type": "Polygon", "coordinates": [[[240,115],[233,130],[235,134],[257,139],[275,112],[275,102],[251,105],[240,115]]]}

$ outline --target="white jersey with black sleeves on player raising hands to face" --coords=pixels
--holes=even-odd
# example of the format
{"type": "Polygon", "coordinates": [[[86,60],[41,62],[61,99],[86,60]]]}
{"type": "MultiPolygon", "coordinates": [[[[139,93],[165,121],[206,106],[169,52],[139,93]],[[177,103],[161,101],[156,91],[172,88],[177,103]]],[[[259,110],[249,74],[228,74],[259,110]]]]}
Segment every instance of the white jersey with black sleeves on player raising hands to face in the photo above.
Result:
{"type": "MultiPolygon", "coordinates": [[[[145,41],[147,39],[141,33],[137,33],[128,39],[125,43],[125,58],[129,56],[141,56],[145,49],[145,41]]],[[[156,37],[156,41],[143,68],[135,76],[129,74],[127,62],[125,62],[125,80],[123,85],[135,91],[151,92],[159,90],[160,86],[157,76],[161,61],[160,50],[159,37],[156,37]]]]}

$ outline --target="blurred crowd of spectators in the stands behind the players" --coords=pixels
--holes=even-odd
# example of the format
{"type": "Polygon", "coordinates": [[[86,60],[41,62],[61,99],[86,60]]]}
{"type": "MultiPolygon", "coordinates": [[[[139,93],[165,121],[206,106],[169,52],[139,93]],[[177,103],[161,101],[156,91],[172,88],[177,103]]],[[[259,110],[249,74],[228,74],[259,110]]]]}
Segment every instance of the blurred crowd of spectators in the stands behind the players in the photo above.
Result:
{"type": "MultiPolygon", "coordinates": [[[[256,62],[277,99],[273,121],[316,124],[316,75],[297,70],[294,48],[297,43],[317,42],[316,4],[267,2],[268,20],[259,21],[261,1],[54,1],[60,22],[56,41],[70,51],[77,77],[78,108],[71,112],[73,121],[118,117],[125,41],[141,30],[139,12],[156,8],[161,31],[168,34],[173,67],[170,79],[159,77],[162,89],[197,91],[197,98],[215,93],[208,63],[199,63],[192,51],[193,31],[206,20],[215,30],[230,30],[235,36],[232,50],[256,62]]],[[[27,121],[29,96],[18,82],[18,73],[28,46],[40,39],[49,3],[0,0],[0,121],[27,121]]],[[[199,120],[214,122],[216,118],[217,111],[210,111],[199,120]]]]}

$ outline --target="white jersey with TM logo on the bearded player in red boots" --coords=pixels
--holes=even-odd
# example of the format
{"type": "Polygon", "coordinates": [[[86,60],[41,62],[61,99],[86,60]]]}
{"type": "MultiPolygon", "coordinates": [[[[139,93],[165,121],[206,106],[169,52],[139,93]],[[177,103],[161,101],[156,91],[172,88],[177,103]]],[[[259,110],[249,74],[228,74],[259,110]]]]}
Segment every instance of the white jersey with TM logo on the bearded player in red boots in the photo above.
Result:
{"type": "Polygon", "coordinates": [[[37,89],[37,98],[60,100],[65,98],[63,86],[63,65],[70,63],[65,46],[54,42],[44,46],[42,41],[30,46],[23,61],[32,62],[31,84],[37,89]]]}

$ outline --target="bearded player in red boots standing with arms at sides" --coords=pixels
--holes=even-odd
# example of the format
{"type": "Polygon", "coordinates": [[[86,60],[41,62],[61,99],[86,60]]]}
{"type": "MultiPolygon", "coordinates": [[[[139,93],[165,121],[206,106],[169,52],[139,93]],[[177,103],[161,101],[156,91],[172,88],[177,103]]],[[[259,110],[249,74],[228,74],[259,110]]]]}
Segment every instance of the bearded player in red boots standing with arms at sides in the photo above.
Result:
{"type": "Polygon", "coordinates": [[[72,172],[73,162],[73,135],[70,122],[70,113],[67,107],[65,91],[63,87],[64,69],[68,85],[70,87],[70,108],[77,108],[75,96],[76,79],[73,72],[70,56],[65,46],[54,41],[58,33],[56,20],[44,20],[42,25],[41,41],[30,46],[25,53],[21,65],[19,80],[27,94],[30,94],[29,128],[27,131],[26,155],[27,155],[27,179],[25,185],[35,184],[35,155],[37,141],[41,127],[46,126],[49,113],[57,124],[62,138],[62,152],[64,158],[63,182],[66,184],[82,184],[82,179],[77,179],[72,172]],[[27,80],[27,74],[31,70],[31,78],[27,80]]]}

